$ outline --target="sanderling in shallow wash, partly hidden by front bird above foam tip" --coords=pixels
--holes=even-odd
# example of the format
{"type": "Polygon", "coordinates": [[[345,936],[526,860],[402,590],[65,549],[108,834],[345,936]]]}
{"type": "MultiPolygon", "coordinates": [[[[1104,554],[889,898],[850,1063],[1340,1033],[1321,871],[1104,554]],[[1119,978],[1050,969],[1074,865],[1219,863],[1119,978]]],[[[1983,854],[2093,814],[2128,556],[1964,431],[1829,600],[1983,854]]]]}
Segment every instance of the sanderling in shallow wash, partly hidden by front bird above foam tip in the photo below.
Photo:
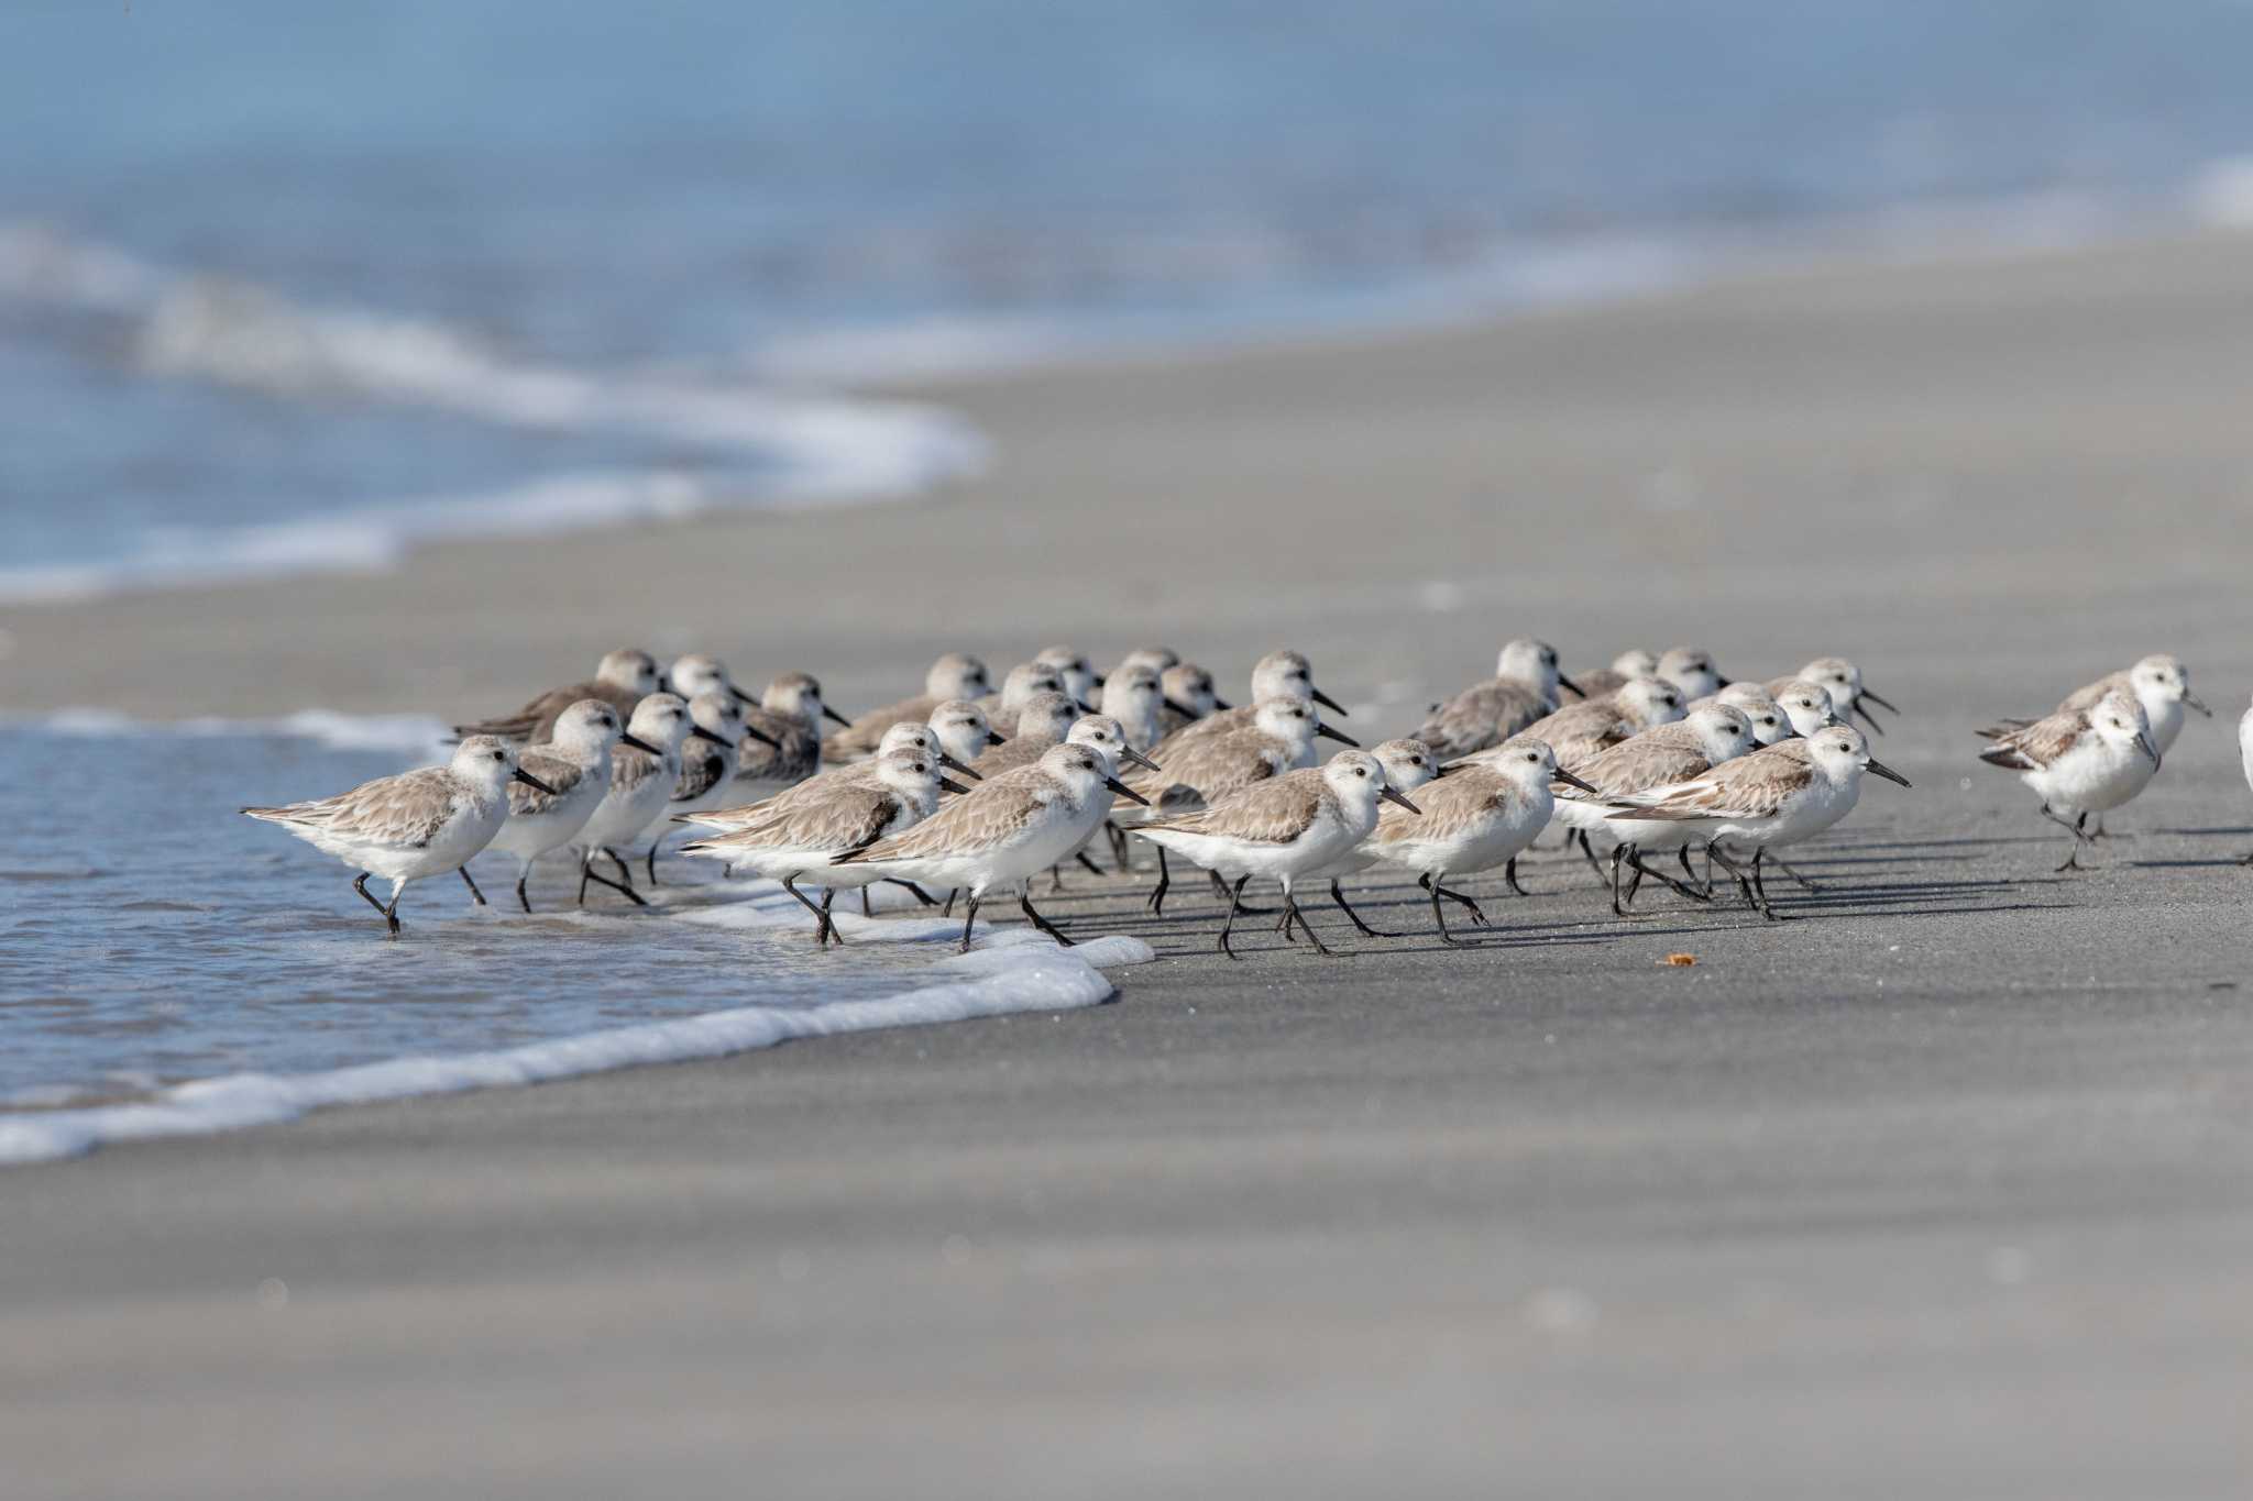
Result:
{"type": "Polygon", "coordinates": [[[741,817],[728,833],[692,839],[680,853],[725,860],[730,871],[748,869],[780,880],[782,889],[813,914],[816,945],[829,947],[831,938],[843,945],[845,936],[829,920],[836,893],[852,887],[867,889],[870,882],[888,880],[888,873],[874,866],[838,869],[831,860],[915,828],[937,810],[942,790],[962,792],[962,783],[942,774],[935,752],[903,745],[876,754],[867,765],[802,783],[757,808],[739,808],[734,815],[741,817]],[[820,905],[798,889],[807,878],[822,887],[820,905]]]}

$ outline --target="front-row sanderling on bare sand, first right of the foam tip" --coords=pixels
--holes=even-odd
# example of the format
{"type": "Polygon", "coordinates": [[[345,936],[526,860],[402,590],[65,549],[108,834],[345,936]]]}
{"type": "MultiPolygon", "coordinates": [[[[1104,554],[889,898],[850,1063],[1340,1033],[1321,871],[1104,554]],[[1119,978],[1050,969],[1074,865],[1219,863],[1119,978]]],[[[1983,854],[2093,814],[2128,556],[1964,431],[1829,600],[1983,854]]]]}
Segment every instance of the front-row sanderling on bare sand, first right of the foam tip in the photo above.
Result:
{"type": "Polygon", "coordinates": [[[1133,833],[1205,866],[1214,875],[1235,875],[1228,893],[1228,920],[1219,947],[1230,959],[1228,934],[1244,905],[1244,884],[1253,875],[1282,882],[1282,934],[1295,923],[1320,954],[1329,947],[1313,932],[1291,896],[1291,882],[1311,875],[1377,828],[1377,801],[1388,799],[1415,812],[1395,788],[1386,785],[1386,767],[1368,752],[1338,752],[1323,770],[1300,770],[1232,792],[1203,812],[1142,824],[1133,833]]]}

